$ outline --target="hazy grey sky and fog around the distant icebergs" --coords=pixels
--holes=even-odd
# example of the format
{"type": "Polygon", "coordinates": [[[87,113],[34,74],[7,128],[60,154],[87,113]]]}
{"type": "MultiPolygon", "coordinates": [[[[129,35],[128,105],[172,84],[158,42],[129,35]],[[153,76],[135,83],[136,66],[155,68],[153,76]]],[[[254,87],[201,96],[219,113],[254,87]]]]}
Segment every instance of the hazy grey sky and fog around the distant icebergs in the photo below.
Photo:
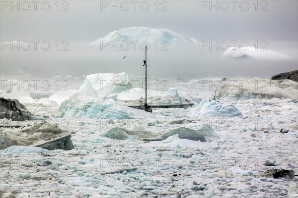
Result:
{"type": "Polygon", "coordinates": [[[81,76],[123,71],[138,75],[143,52],[104,52],[89,46],[113,31],[128,27],[168,29],[199,42],[247,41],[252,47],[257,43],[259,48],[265,42],[266,49],[292,57],[226,59],[221,58],[224,50],[170,46],[168,51],[149,52],[152,76],[271,77],[298,69],[297,0],[49,0],[36,4],[1,0],[0,5],[1,74],[13,74],[21,69],[39,75],[81,76]],[[31,48],[23,50],[19,43],[16,45],[20,50],[11,49],[12,41],[28,41],[31,48]],[[43,47],[50,43],[50,49],[43,49],[42,42],[43,47]],[[125,55],[127,58],[122,59],[125,55]]]}

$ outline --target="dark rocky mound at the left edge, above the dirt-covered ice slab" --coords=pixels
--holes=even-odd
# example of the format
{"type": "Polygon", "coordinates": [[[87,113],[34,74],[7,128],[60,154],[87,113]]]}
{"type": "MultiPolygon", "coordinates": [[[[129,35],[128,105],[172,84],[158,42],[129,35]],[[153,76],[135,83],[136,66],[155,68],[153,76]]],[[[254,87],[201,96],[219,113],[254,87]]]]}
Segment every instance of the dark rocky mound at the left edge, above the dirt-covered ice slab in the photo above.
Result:
{"type": "Polygon", "coordinates": [[[32,114],[17,99],[4,99],[0,97],[0,119],[13,121],[31,120],[32,114]]]}

